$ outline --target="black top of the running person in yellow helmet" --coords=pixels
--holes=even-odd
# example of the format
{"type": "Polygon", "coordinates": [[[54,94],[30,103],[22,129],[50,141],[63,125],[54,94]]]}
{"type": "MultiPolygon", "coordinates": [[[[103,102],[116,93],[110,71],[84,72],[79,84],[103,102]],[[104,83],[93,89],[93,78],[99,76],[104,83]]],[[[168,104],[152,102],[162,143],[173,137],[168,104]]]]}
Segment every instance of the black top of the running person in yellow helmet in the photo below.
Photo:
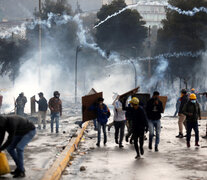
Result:
{"type": "Polygon", "coordinates": [[[144,109],[141,106],[139,106],[138,109],[126,107],[123,103],[123,110],[130,113],[130,118],[132,120],[132,133],[143,135],[144,131],[148,130],[148,122],[144,109]]]}

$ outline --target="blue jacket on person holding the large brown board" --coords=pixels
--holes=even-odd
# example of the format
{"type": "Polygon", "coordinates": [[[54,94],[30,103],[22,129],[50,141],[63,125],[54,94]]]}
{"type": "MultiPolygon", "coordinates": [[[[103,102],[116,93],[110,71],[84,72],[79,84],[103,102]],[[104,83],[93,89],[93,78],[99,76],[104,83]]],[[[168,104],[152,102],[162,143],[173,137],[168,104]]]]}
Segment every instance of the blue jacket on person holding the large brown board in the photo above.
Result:
{"type": "Polygon", "coordinates": [[[100,109],[98,105],[92,105],[89,110],[90,111],[96,111],[96,114],[97,114],[97,121],[99,123],[101,123],[101,125],[104,125],[107,123],[108,121],[108,107],[104,105],[104,108],[103,109],[100,109]]]}

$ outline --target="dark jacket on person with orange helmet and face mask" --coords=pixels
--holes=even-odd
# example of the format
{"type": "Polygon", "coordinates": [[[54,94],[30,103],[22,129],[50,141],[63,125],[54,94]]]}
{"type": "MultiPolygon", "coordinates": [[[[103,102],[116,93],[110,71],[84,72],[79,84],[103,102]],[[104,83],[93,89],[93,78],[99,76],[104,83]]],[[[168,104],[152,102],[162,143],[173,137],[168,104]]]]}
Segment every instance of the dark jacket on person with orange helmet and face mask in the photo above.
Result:
{"type": "Polygon", "coordinates": [[[186,122],[197,122],[198,118],[201,116],[200,105],[198,102],[192,103],[188,101],[182,110],[183,114],[186,115],[186,122]],[[192,113],[192,116],[189,116],[189,113],[192,113]]]}

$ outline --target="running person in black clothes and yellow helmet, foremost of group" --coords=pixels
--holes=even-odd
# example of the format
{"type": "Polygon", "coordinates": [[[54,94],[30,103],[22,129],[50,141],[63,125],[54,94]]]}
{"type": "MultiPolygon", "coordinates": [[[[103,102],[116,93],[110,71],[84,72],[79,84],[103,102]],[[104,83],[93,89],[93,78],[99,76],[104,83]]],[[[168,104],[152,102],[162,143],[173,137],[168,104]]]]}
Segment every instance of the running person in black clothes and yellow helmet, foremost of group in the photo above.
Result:
{"type": "Polygon", "coordinates": [[[123,110],[129,111],[131,113],[132,118],[132,135],[134,140],[134,148],[136,150],[136,159],[140,158],[140,154],[144,154],[144,132],[148,131],[148,122],[145,112],[142,107],[139,106],[139,99],[134,97],[130,104],[132,107],[126,107],[126,99],[123,100],[123,110]],[[140,153],[139,153],[139,146],[138,140],[140,145],[140,153]]]}

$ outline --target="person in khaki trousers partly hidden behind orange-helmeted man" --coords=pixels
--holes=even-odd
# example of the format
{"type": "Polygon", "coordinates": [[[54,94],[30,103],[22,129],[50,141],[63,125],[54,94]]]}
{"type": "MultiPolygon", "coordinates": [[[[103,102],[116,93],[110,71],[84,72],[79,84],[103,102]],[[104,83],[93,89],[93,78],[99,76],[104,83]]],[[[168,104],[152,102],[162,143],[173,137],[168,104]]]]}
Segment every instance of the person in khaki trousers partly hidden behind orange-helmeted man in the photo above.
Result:
{"type": "Polygon", "coordinates": [[[186,129],[186,116],[183,114],[183,107],[188,102],[188,95],[185,89],[181,90],[181,103],[178,112],[178,127],[179,127],[179,134],[176,136],[177,138],[183,138],[183,125],[186,129]]]}

